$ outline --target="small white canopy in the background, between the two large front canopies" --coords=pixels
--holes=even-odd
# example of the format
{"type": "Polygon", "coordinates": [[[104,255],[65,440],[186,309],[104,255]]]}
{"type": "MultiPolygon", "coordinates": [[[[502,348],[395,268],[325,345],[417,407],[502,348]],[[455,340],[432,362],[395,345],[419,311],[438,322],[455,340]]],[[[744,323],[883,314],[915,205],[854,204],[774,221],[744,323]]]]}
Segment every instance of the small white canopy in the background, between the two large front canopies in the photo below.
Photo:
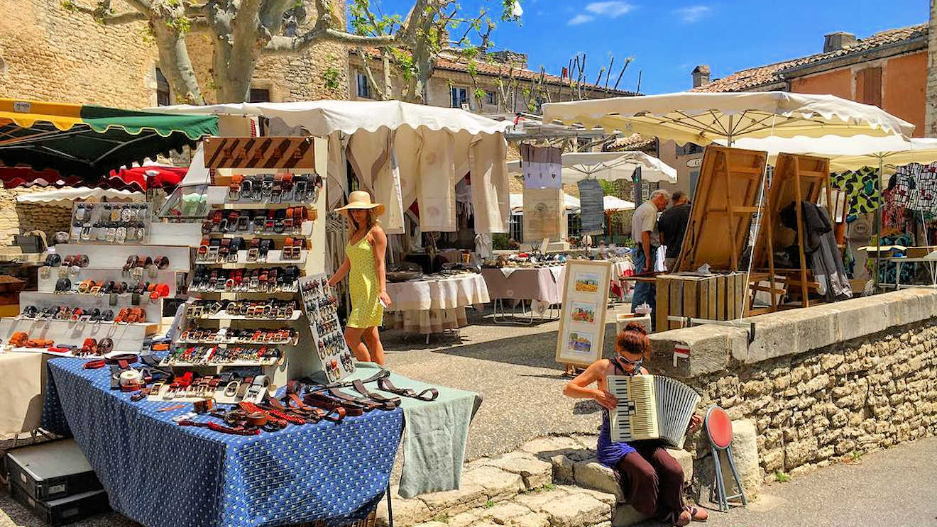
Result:
{"type": "MultiPolygon", "coordinates": [[[[635,168],[641,168],[646,182],[677,183],[677,170],[643,152],[572,152],[562,155],[563,183],[576,183],[586,178],[605,181],[629,180],[635,168]]],[[[507,164],[508,171],[522,173],[521,160],[507,164]]]]}

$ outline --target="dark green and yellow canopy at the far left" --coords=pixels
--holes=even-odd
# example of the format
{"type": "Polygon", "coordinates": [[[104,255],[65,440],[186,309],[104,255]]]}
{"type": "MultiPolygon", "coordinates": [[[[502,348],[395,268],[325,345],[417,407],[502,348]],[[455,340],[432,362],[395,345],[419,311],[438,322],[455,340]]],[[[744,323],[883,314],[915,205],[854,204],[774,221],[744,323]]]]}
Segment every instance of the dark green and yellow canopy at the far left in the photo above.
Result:
{"type": "Polygon", "coordinates": [[[97,184],[102,174],[194,147],[217,129],[214,115],[0,99],[0,164],[30,168],[33,174],[20,172],[23,183],[41,177],[97,184]]]}

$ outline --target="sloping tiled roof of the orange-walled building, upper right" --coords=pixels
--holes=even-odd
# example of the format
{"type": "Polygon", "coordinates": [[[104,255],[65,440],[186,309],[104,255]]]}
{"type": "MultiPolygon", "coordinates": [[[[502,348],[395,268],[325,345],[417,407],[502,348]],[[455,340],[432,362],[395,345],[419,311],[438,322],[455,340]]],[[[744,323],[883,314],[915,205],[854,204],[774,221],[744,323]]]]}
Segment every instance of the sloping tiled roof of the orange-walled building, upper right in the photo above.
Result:
{"type": "Polygon", "coordinates": [[[784,72],[800,66],[809,66],[821,61],[845,57],[854,53],[871,51],[905,40],[927,37],[928,24],[921,23],[899,29],[889,29],[871,37],[860,38],[853,46],[841,50],[816,53],[767,66],[751,67],[712,81],[705,86],[693,88],[693,92],[742,92],[784,81],[784,72]]]}

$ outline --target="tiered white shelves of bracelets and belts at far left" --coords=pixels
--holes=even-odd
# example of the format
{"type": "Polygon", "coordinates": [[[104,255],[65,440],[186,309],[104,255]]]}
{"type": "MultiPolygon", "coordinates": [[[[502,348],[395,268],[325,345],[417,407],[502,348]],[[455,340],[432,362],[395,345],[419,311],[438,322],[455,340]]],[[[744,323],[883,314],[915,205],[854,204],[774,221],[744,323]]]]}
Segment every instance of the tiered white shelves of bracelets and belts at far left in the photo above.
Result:
{"type": "MultiPolygon", "coordinates": [[[[144,205],[85,202],[73,209],[81,221],[102,211],[120,214],[116,221],[148,219],[144,205]]],[[[146,244],[123,232],[120,238],[56,244],[37,269],[37,290],[21,293],[20,314],[0,319],[3,349],[89,359],[140,352],[162,322],[165,300],[186,283],[189,248],[146,244]]]]}

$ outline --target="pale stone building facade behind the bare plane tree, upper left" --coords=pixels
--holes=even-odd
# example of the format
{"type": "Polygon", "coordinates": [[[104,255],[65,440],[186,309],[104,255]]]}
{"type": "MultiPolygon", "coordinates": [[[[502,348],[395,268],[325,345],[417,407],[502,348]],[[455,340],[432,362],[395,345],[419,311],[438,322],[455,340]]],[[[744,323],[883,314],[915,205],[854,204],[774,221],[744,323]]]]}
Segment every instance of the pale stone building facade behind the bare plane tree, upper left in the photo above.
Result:
{"type": "MultiPolygon", "coordinates": [[[[343,3],[335,5],[335,16],[344,23],[343,3]]],[[[130,9],[123,0],[114,0],[112,7],[116,12],[130,9]]],[[[315,21],[314,7],[307,9],[306,21],[315,21]]],[[[156,46],[146,37],[144,22],[101,25],[62,7],[61,0],[0,0],[0,11],[0,96],[131,109],[174,103],[159,81],[156,46]],[[168,100],[161,101],[160,95],[168,100]]],[[[186,43],[206,98],[216,102],[208,37],[194,33],[186,43]]],[[[346,48],[321,43],[301,55],[263,57],[252,93],[274,102],[345,99],[348,71],[346,48]]],[[[13,235],[25,230],[53,234],[67,227],[61,208],[16,203],[18,193],[37,190],[0,188],[0,245],[12,244],[13,235]]]]}

